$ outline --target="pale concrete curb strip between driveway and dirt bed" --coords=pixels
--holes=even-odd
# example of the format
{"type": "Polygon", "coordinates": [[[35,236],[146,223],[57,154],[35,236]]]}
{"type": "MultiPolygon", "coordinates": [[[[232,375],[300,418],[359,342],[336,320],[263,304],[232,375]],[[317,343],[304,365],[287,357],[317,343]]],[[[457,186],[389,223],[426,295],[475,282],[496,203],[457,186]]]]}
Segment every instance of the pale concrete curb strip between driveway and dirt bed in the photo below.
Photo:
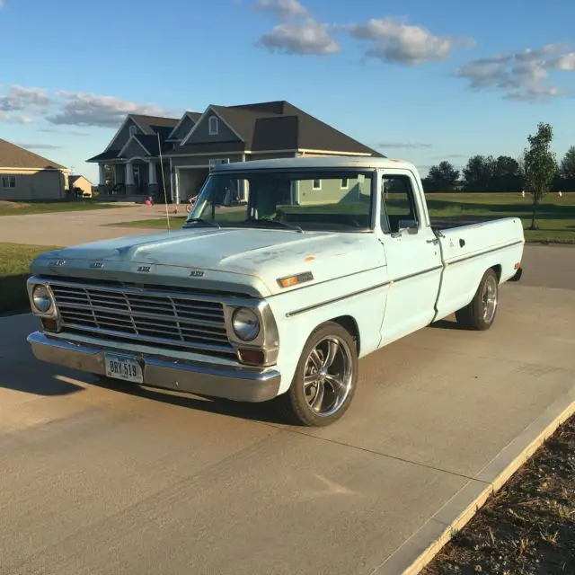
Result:
{"type": "Polygon", "coordinates": [[[546,438],[575,413],[575,386],[553,402],[517,438],[501,449],[473,480],[390,555],[372,575],[417,575],[482,508],[492,493],[533,456],[546,438]]]}

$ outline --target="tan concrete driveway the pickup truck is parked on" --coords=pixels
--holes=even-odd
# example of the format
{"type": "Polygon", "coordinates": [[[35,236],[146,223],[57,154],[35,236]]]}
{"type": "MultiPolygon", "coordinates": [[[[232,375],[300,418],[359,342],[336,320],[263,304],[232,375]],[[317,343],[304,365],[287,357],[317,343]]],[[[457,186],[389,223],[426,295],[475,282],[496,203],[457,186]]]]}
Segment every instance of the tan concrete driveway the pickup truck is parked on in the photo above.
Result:
{"type": "Polygon", "coordinates": [[[530,266],[490,332],[441,323],[363,360],[328,429],[41,365],[36,321],[0,319],[0,574],[400,572],[403,545],[571,401],[573,256],[528,250],[565,285],[530,266]]]}

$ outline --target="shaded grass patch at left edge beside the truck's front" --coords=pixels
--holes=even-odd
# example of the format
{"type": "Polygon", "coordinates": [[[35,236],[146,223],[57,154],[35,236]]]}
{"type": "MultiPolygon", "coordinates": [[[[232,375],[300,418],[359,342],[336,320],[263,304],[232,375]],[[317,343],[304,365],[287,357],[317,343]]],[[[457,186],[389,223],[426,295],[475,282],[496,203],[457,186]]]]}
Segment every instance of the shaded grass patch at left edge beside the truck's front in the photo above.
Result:
{"type": "Polygon", "coordinates": [[[0,314],[30,309],[26,280],[30,262],[55,248],[46,245],[0,243],[0,314]]]}

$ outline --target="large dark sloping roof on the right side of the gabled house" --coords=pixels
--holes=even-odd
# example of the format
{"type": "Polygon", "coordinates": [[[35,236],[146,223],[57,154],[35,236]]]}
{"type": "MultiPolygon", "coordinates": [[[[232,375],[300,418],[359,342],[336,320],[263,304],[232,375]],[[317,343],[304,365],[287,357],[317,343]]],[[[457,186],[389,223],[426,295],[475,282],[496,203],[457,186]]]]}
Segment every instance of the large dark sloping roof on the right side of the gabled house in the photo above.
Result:
{"type": "MultiPolygon", "coordinates": [[[[376,150],[286,101],[209,108],[242,137],[244,149],[252,152],[305,149],[382,157],[376,150]]],[[[206,146],[208,142],[188,143],[169,155],[193,154],[194,148],[206,146]]]]}

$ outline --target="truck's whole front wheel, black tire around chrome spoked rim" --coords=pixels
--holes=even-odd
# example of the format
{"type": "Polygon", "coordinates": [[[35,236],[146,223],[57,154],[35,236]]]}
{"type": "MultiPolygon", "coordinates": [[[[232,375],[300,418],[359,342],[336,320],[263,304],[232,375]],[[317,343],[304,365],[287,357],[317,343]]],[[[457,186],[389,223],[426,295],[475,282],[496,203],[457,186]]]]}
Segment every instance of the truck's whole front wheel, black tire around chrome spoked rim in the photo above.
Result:
{"type": "Polygon", "coordinates": [[[348,411],[357,383],[357,342],[339,323],[327,322],[316,328],[305,342],[291,386],[278,400],[290,422],[307,427],[325,427],[348,411]],[[337,350],[333,352],[334,344],[337,350]],[[312,358],[314,349],[316,353],[312,358]],[[318,359],[323,366],[330,359],[332,361],[319,370],[315,367],[318,359]],[[335,373],[330,373],[331,367],[335,373]],[[314,378],[317,381],[311,384],[314,378]],[[335,385],[340,380],[341,385],[335,385]],[[319,391],[320,388],[323,392],[319,391]],[[318,409],[313,407],[314,400],[318,401],[318,409]]]}

